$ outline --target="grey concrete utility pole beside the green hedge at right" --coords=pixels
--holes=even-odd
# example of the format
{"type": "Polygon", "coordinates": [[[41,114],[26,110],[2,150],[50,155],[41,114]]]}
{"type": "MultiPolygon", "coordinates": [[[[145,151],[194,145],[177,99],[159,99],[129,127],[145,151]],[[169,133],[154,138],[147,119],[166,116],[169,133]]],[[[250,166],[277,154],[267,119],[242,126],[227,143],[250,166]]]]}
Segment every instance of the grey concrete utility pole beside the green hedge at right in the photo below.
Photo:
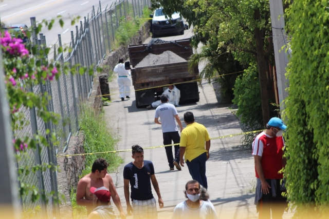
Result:
{"type": "Polygon", "coordinates": [[[280,114],[284,110],[282,101],[287,97],[288,80],[286,79],[286,67],[288,64],[287,37],[284,29],[284,16],[282,0],[269,0],[271,12],[274,54],[276,59],[277,86],[279,93],[280,114]]]}

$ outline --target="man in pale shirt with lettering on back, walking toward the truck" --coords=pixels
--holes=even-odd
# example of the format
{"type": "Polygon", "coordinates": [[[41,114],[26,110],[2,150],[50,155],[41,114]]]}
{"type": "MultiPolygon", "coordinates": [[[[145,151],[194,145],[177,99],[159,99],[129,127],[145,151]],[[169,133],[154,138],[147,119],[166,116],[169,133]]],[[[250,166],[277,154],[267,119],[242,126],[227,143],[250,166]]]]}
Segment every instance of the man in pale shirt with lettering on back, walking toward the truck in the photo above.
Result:
{"type": "MultiPolygon", "coordinates": [[[[183,130],[183,127],[181,125],[177,110],[174,105],[168,103],[167,94],[162,94],[160,98],[161,104],[155,110],[154,122],[161,125],[163,145],[171,145],[172,141],[174,144],[178,144],[180,141],[180,136],[175,120],[180,127],[180,132],[183,130]],[[161,122],[158,120],[159,117],[161,118],[161,122]]],[[[179,165],[179,145],[174,146],[175,156],[173,156],[172,147],[173,146],[165,147],[170,168],[169,170],[174,170],[174,166],[177,168],[177,170],[181,170],[179,165]]]]}

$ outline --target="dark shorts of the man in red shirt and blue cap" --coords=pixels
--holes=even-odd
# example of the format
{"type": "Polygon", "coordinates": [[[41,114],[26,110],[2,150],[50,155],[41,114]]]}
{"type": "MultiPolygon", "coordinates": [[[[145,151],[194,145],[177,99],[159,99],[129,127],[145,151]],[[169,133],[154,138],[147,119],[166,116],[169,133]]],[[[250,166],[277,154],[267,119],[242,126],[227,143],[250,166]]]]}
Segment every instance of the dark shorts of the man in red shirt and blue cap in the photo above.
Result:
{"type": "MultiPolygon", "coordinates": [[[[271,185],[271,180],[266,180],[266,182],[271,185]]],[[[258,218],[261,219],[282,219],[284,209],[287,207],[287,198],[282,196],[280,190],[280,180],[277,180],[276,188],[277,196],[272,196],[272,188],[269,188],[269,193],[264,194],[260,201],[259,215],[258,218]],[[272,217],[271,217],[272,213],[272,217]]]]}

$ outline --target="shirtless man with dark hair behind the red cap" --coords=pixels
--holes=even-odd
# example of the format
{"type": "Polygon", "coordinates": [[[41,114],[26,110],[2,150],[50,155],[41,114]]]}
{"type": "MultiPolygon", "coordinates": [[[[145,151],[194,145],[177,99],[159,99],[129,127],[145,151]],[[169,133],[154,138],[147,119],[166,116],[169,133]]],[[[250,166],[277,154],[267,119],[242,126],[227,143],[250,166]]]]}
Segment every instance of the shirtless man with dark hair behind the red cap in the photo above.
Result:
{"type": "MultiPolygon", "coordinates": [[[[124,219],[125,214],[121,207],[120,197],[114,187],[112,177],[107,174],[107,167],[107,162],[102,158],[98,158],[93,164],[92,172],[79,180],[77,188],[77,204],[86,206],[87,213],[89,214],[94,209],[94,194],[89,191],[90,187],[100,188],[104,186],[109,192],[111,192],[113,202],[120,211],[121,218],[124,219]]],[[[109,205],[111,205],[111,200],[109,201],[109,205]]]]}

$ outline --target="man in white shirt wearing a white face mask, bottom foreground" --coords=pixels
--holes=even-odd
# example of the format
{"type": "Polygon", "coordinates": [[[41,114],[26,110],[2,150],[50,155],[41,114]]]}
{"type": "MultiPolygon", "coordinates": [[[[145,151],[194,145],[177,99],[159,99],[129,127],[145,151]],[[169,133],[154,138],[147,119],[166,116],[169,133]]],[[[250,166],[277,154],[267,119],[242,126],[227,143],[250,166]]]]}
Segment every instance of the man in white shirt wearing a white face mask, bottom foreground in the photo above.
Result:
{"type": "Polygon", "coordinates": [[[187,182],[184,193],[188,199],[175,207],[172,219],[217,219],[207,190],[197,181],[187,182]]]}

